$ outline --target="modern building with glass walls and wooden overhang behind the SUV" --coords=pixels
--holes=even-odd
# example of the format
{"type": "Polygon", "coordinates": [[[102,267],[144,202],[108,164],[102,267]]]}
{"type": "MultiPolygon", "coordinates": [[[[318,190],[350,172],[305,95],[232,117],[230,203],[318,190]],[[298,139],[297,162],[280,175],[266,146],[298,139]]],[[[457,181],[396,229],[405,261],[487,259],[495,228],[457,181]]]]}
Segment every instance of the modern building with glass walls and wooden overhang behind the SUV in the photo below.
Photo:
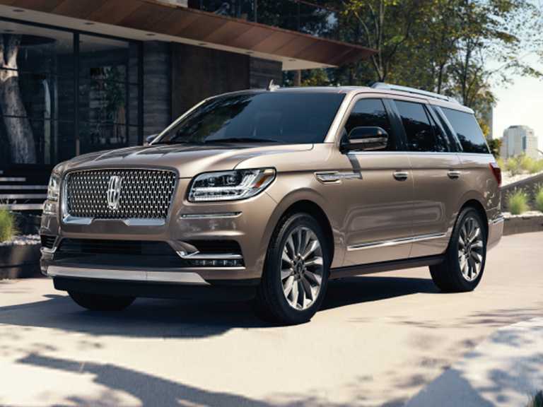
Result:
{"type": "MultiPolygon", "coordinates": [[[[143,143],[210,95],[369,57],[334,40],[335,13],[303,0],[0,0],[0,179],[46,179],[62,160],[143,143]]],[[[1,196],[13,194],[0,182],[1,196]]]]}

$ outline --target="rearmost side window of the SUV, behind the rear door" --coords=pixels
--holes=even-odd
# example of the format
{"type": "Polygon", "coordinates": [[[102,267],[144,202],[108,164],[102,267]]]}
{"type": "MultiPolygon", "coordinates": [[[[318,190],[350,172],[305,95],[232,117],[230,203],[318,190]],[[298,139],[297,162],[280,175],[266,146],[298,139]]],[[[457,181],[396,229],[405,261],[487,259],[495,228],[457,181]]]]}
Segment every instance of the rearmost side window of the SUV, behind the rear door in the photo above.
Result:
{"type": "Polygon", "coordinates": [[[490,153],[481,127],[473,114],[446,107],[441,107],[441,110],[455,129],[464,153],[490,153]]]}

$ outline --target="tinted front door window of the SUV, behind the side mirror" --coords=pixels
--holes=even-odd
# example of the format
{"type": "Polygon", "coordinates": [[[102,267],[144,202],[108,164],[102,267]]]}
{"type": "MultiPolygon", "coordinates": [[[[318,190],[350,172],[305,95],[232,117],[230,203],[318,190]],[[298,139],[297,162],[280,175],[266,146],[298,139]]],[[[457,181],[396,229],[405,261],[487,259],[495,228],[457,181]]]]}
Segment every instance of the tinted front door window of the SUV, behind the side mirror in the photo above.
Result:
{"type": "Polygon", "coordinates": [[[385,130],[388,133],[388,146],[385,150],[394,151],[396,149],[394,134],[392,134],[390,120],[382,100],[361,99],[356,102],[345,124],[346,134],[349,134],[349,131],[355,127],[362,126],[378,126],[385,130]]]}

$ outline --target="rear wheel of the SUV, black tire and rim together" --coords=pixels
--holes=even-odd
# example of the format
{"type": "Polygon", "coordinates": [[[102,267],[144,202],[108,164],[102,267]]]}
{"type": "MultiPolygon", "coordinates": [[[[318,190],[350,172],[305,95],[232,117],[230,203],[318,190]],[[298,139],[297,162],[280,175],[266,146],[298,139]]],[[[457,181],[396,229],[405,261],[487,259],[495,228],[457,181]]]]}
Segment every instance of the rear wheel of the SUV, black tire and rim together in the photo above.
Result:
{"type": "Polygon", "coordinates": [[[452,230],[445,260],[430,266],[432,280],[445,293],[472,291],[481,281],[485,262],[484,222],[476,209],[464,208],[452,230]]]}

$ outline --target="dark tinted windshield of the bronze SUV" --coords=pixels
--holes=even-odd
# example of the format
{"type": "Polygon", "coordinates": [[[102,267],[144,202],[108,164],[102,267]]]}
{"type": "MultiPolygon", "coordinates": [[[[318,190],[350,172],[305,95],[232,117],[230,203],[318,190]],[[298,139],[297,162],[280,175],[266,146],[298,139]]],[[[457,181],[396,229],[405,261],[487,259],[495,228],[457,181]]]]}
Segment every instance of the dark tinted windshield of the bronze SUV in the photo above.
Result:
{"type": "Polygon", "coordinates": [[[156,143],[322,143],[341,93],[238,93],[208,100],[156,143]]]}

